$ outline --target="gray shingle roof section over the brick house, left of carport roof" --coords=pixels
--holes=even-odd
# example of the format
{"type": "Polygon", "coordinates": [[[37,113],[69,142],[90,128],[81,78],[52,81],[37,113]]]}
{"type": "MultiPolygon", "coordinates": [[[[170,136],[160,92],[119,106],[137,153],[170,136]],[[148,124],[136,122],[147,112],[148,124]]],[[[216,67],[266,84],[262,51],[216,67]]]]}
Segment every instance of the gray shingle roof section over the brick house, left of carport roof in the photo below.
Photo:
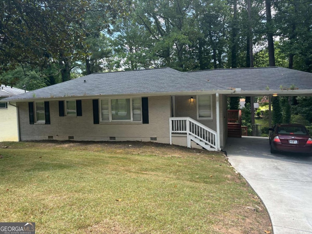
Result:
{"type": "Polygon", "coordinates": [[[95,73],[10,97],[7,100],[201,90],[227,90],[227,88],[166,67],[95,73]]]}

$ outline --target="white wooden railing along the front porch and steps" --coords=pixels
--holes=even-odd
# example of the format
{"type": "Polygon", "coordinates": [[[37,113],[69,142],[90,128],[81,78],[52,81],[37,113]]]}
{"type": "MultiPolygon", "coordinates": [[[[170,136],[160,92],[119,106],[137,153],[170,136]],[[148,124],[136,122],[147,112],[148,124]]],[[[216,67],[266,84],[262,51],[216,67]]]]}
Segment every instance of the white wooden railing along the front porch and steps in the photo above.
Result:
{"type": "Polygon", "coordinates": [[[186,133],[187,146],[191,148],[191,140],[201,145],[207,150],[217,151],[217,132],[206,127],[189,117],[169,118],[170,144],[172,144],[172,134],[186,133]]]}

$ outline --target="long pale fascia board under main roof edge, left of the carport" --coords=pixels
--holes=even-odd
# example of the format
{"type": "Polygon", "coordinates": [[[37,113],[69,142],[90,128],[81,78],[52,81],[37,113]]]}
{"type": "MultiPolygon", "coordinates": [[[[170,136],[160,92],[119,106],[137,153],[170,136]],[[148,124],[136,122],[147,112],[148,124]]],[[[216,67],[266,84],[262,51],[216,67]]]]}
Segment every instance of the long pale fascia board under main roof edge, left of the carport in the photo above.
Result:
{"type": "Polygon", "coordinates": [[[77,100],[77,99],[103,99],[106,97],[150,97],[150,96],[182,96],[182,95],[207,95],[207,94],[233,94],[234,90],[209,90],[209,91],[182,91],[182,92],[159,92],[159,93],[135,93],[135,94],[112,94],[112,95],[84,95],[84,96],[66,96],[66,97],[49,97],[49,98],[25,98],[25,99],[9,99],[7,101],[25,102],[25,101],[42,101],[42,100],[77,100]]]}

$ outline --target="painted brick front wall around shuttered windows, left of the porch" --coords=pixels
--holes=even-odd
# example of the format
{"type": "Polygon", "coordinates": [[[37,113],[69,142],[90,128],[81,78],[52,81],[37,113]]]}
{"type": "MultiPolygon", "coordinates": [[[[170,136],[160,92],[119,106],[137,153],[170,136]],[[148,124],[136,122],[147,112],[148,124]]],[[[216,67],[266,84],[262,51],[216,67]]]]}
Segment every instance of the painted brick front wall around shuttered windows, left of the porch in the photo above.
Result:
{"type": "Polygon", "coordinates": [[[150,141],[169,143],[170,96],[149,97],[149,124],[100,123],[93,124],[92,99],[82,100],[82,116],[60,117],[58,101],[50,101],[51,124],[29,124],[28,102],[20,102],[21,140],[41,140],[53,136],[56,140],[150,141]]]}

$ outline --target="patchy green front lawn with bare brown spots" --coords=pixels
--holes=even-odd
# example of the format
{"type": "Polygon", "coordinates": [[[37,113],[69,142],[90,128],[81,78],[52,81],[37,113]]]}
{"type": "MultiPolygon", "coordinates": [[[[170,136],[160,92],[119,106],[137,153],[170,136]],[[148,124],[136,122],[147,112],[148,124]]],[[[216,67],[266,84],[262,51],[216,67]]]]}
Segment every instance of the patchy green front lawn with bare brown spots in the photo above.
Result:
{"type": "Polygon", "coordinates": [[[0,142],[1,222],[36,222],[38,234],[269,230],[223,154],[130,144],[0,142]]]}

